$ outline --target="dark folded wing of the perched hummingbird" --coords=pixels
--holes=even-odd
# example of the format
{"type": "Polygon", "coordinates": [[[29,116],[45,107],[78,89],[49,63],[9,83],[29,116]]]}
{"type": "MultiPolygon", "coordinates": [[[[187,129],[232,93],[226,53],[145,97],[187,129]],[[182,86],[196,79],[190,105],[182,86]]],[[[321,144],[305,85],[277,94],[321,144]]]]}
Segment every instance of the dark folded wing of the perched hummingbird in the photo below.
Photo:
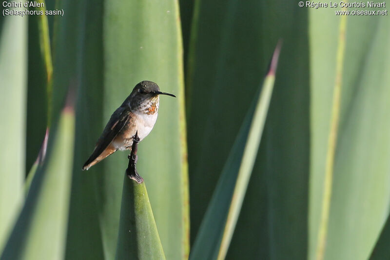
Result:
{"type": "Polygon", "coordinates": [[[84,163],[83,169],[85,169],[88,164],[94,161],[107,148],[107,146],[112,142],[112,140],[114,140],[130,117],[129,109],[123,106],[120,106],[113,113],[110,120],[106,124],[103,133],[98,139],[98,143],[96,144],[94,152],[84,163]]]}

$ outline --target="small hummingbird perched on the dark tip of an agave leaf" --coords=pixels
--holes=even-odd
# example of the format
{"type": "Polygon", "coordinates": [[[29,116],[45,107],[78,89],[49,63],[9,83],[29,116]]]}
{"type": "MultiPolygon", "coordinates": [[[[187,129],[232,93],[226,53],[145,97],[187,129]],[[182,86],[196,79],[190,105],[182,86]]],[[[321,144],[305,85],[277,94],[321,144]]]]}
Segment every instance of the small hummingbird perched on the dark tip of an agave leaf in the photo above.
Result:
{"type": "Polygon", "coordinates": [[[173,94],[161,92],[153,81],[139,82],[111,115],[98,139],[95,150],[82,169],[88,170],[117,150],[130,150],[136,133],[139,141],[149,135],[157,120],[159,95],[176,98],[173,94]]]}

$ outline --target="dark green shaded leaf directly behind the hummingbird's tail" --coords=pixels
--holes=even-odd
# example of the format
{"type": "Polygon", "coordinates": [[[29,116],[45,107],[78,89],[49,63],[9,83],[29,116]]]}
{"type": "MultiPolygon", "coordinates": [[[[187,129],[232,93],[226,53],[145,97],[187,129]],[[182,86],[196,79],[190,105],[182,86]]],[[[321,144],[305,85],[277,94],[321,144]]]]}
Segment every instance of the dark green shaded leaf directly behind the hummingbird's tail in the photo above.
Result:
{"type": "Polygon", "coordinates": [[[68,86],[76,86],[78,93],[65,259],[102,260],[98,203],[103,202],[97,200],[97,193],[105,183],[98,181],[101,172],[82,172],[81,166],[94,148],[104,123],[103,1],[63,0],[58,4],[57,8],[66,13],[57,18],[54,28],[53,105],[62,102],[63,89],[68,86]]]}

